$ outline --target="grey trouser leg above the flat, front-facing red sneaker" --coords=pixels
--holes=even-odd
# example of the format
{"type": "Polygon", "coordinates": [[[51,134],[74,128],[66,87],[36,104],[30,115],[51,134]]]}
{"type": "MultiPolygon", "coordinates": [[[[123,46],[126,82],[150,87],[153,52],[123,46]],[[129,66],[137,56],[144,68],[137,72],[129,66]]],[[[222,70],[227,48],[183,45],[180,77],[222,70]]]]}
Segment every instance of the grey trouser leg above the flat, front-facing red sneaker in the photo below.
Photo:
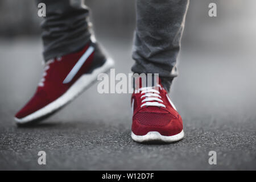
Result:
{"type": "Polygon", "coordinates": [[[137,29],[133,47],[135,73],[159,73],[170,89],[177,76],[176,59],[188,0],[137,0],[137,29]]]}

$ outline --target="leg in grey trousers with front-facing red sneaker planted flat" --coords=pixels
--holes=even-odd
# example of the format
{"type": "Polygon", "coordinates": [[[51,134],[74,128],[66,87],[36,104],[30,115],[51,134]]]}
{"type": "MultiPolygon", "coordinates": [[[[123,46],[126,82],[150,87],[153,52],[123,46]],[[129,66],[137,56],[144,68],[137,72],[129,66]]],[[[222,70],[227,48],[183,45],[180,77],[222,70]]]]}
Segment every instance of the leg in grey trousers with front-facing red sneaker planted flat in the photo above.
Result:
{"type": "Polygon", "coordinates": [[[135,142],[176,142],[184,137],[183,121],[168,96],[188,0],[137,0],[137,30],[132,71],[159,73],[162,84],[135,90],[131,96],[135,142]]]}

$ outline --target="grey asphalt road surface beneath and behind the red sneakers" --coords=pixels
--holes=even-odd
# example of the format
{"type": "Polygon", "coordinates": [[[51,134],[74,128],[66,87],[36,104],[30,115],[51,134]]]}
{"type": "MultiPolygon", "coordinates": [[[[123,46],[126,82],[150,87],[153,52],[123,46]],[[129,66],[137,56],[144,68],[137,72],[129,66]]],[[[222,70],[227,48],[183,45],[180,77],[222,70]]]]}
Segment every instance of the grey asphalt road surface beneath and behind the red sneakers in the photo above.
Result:
{"type": "MultiPolygon", "coordinates": [[[[100,40],[116,73],[129,73],[131,40],[100,40]]],[[[0,169],[255,170],[255,50],[212,47],[184,43],[180,53],[171,98],[184,139],[139,144],[130,138],[130,94],[99,94],[97,84],[39,125],[17,127],[13,115],[42,75],[42,46],[39,38],[1,40],[0,169]],[[46,165],[38,164],[39,151],[46,165]]]]}

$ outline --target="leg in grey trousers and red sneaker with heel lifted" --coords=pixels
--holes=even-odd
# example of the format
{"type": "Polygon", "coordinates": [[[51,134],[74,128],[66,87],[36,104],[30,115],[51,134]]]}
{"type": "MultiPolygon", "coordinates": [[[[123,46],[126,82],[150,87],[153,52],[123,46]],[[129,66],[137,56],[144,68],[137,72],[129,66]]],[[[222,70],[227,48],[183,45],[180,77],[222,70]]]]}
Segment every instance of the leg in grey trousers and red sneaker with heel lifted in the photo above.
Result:
{"type": "MultiPolygon", "coordinates": [[[[39,0],[38,0],[39,2],[39,0]]],[[[16,113],[19,125],[42,121],[73,101],[113,67],[90,40],[88,9],[81,0],[40,0],[46,3],[42,24],[44,73],[34,96],[16,113]]]]}

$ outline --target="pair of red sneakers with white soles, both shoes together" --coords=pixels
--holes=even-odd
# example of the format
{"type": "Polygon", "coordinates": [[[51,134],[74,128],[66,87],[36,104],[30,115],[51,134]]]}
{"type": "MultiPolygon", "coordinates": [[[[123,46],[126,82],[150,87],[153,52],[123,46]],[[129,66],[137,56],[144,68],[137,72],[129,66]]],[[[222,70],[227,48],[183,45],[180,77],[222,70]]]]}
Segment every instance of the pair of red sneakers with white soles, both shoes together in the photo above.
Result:
{"type": "MultiPolygon", "coordinates": [[[[34,96],[15,115],[16,122],[36,122],[55,113],[96,81],[98,74],[113,66],[114,61],[92,42],[76,53],[48,60],[34,96]]],[[[160,82],[154,88],[136,89],[131,105],[131,137],[136,142],[175,142],[183,138],[181,117],[160,82]]]]}

